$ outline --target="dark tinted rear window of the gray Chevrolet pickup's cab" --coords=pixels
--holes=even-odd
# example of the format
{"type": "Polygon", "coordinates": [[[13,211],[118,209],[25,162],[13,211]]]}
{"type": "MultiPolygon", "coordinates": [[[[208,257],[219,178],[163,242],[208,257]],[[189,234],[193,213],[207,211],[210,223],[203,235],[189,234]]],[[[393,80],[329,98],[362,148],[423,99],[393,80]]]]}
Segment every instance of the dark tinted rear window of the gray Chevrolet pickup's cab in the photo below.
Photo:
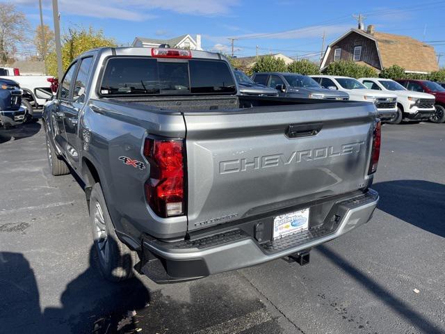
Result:
{"type": "Polygon", "coordinates": [[[225,61],[150,57],[108,58],[99,88],[104,97],[235,93],[225,61]]]}

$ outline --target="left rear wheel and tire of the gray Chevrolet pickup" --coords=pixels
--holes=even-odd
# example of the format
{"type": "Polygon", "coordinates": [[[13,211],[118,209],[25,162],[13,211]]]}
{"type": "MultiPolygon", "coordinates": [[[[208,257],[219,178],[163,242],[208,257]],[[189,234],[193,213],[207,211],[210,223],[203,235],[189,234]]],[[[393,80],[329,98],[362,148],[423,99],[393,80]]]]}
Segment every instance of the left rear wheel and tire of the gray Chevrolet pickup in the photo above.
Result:
{"type": "Polygon", "coordinates": [[[91,190],[90,225],[97,267],[102,276],[111,282],[131,278],[134,275],[133,267],[138,263],[138,254],[118,239],[99,183],[91,190]]]}

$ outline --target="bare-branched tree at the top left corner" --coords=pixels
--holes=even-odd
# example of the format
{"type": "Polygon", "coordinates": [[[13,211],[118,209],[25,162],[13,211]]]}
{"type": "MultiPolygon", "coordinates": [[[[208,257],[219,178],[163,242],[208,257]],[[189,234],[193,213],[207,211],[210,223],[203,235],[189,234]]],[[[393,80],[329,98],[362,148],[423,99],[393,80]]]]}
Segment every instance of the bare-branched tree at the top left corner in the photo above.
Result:
{"type": "Polygon", "coordinates": [[[0,62],[15,57],[17,45],[28,40],[29,22],[13,3],[0,3],[0,62]]]}

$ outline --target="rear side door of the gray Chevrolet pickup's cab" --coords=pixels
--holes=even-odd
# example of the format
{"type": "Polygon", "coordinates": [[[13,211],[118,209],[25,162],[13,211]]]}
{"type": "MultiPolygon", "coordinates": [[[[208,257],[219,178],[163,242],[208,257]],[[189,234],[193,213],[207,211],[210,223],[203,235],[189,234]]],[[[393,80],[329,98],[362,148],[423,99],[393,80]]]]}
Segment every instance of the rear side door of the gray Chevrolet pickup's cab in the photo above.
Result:
{"type": "Polygon", "coordinates": [[[82,58],[74,80],[72,81],[72,97],[63,104],[63,125],[67,140],[67,159],[76,169],[79,166],[79,112],[86,100],[86,86],[92,64],[92,56],[82,58]]]}

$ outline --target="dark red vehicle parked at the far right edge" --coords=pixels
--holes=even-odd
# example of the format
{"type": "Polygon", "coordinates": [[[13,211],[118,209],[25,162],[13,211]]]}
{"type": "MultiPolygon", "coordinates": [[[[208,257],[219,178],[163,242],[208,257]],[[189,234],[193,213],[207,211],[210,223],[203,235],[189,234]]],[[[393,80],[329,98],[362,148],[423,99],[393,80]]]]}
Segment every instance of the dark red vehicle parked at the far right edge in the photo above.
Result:
{"type": "Polygon", "coordinates": [[[434,95],[436,110],[430,117],[430,121],[435,123],[445,122],[445,88],[434,81],[428,80],[401,79],[396,81],[407,90],[434,95]]]}

